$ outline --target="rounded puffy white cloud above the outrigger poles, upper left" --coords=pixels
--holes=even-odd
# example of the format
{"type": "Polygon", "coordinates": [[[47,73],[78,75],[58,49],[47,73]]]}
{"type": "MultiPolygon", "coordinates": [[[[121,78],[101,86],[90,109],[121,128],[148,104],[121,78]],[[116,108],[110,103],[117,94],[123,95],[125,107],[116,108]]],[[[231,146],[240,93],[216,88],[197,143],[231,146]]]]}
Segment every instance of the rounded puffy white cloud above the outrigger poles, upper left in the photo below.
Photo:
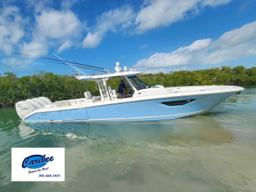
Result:
{"type": "Polygon", "coordinates": [[[42,10],[36,17],[32,39],[23,43],[22,53],[46,55],[50,47],[58,47],[58,53],[73,46],[82,32],[82,23],[70,10],[42,10]]]}

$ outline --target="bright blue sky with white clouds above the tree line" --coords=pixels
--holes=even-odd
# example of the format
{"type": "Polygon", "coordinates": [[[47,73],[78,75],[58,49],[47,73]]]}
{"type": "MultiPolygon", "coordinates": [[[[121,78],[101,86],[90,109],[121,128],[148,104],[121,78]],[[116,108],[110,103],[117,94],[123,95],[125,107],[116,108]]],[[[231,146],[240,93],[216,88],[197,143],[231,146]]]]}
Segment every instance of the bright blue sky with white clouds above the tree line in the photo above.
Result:
{"type": "Polygon", "coordinates": [[[77,73],[68,65],[11,52],[58,55],[112,73],[116,62],[145,73],[251,68],[255,10],[256,0],[0,1],[0,74],[77,73]]]}

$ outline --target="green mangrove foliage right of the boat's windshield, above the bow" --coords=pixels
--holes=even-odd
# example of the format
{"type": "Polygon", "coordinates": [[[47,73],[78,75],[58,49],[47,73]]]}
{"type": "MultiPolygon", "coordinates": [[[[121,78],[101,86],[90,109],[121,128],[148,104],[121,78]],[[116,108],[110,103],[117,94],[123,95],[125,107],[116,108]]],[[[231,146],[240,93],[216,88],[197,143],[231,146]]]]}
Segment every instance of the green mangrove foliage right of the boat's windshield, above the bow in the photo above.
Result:
{"type": "Polygon", "coordinates": [[[139,75],[147,84],[164,85],[164,87],[193,86],[193,85],[255,85],[256,67],[245,68],[237,66],[230,68],[211,68],[206,70],[180,70],[169,74],[139,75]]]}

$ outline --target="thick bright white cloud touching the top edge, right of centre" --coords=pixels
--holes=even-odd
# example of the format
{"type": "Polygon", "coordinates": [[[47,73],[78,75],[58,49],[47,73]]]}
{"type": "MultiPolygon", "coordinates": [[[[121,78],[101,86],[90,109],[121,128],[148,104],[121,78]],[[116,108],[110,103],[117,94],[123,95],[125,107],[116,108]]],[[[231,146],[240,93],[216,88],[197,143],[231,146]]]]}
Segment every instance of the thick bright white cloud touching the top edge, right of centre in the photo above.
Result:
{"type": "Polygon", "coordinates": [[[169,26],[171,23],[198,14],[205,6],[228,4],[231,0],[151,0],[146,1],[134,24],[137,33],[144,33],[151,28],[169,26]]]}

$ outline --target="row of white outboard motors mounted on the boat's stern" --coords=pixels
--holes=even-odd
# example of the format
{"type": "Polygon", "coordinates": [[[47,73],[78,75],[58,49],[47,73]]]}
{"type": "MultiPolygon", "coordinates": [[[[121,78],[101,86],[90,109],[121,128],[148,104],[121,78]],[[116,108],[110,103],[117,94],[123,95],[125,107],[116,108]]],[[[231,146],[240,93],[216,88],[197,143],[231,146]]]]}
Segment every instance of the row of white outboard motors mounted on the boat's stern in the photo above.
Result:
{"type": "Polygon", "coordinates": [[[44,107],[46,105],[50,105],[52,102],[46,98],[46,97],[38,97],[34,98],[32,100],[25,100],[16,102],[16,112],[18,114],[18,117],[21,117],[21,119],[24,119],[27,114],[40,109],[41,107],[44,107]]]}

